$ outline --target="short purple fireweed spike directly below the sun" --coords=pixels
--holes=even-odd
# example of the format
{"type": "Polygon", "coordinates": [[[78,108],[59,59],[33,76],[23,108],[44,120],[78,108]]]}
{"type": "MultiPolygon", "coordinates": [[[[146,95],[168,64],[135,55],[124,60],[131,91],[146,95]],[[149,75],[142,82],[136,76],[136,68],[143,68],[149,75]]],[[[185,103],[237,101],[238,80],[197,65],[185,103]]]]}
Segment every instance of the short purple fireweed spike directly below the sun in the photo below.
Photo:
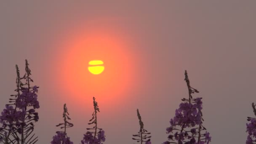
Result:
{"type": "Polygon", "coordinates": [[[95,98],[93,97],[93,107],[94,112],[92,114],[91,120],[89,120],[91,123],[88,123],[88,125],[95,124],[93,128],[86,128],[87,130],[93,130],[93,131],[87,131],[84,134],[83,140],[81,140],[82,144],[103,144],[103,142],[106,140],[105,138],[105,132],[102,130],[102,128],[98,128],[97,123],[97,112],[99,112],[99,106],[98,103],[95,101],[95,98]],[[99,132],[97,132],[97,129],[99,132]],[[96,137],[97,135],[97,137],[96,137]]]}

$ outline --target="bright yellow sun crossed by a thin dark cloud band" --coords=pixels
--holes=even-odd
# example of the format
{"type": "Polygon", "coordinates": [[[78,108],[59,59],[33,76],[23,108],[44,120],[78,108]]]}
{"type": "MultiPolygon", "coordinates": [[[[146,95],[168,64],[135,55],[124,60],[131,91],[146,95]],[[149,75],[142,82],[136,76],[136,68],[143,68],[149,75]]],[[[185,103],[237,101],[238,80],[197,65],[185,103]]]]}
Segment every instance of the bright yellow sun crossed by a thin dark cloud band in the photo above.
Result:
{"type": "Polygon", "coordinates": [[[89,66],[88,70],[91,72],[93,75],[99,75],[104,71],[104,66],[103,66],[103,61],[101,60],[92,60],[89,61],[89,66]]]}

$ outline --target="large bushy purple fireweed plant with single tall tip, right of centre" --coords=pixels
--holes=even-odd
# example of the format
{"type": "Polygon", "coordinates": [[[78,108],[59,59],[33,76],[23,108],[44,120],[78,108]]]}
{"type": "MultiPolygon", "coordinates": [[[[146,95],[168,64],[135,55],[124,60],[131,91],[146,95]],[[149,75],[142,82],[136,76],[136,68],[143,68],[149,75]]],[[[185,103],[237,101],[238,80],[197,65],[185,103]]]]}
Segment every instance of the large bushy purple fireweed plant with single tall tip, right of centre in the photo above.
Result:
{"type": "Polygon", "coordinates": [[[202,98],[192,98],[192,93],[199,93],[192,88],[189,83],[187,71],[185,71],[185,81],[189,91],[189,99],[183,98],[176,109],[175,116],[170,120],[171,126],[166,128],[169,141],[163,144],[209,144],[211,136],[206,131],[203,124],[202,98]]]}

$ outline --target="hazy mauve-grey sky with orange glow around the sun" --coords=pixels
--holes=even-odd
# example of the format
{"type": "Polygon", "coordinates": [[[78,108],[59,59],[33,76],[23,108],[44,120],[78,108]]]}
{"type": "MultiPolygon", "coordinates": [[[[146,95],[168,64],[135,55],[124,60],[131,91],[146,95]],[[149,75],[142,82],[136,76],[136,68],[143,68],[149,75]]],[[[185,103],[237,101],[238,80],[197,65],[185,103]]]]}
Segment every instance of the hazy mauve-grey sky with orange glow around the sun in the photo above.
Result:
{"type": "Polygon", "coordinates": [[[78,144],[89,127],[93,96],[104,144],[135,143],[137,108],[152,144],[160,144],[188,97],[187,69],[203,97],[211,144],[244,144],[246,117],[253,117],[256,102],[255,6],[255,0],[1,1],[0,109],[14,93],[15,64],[23,75],[28,59],[40,86],[38,144],[60,130],[55,125],[63,120],[64,103],[74,123],[68,136],[78,144]],[[111,61],[102,83],[88,76],[87,59],[95,55],[88,43],[111,61]]]}

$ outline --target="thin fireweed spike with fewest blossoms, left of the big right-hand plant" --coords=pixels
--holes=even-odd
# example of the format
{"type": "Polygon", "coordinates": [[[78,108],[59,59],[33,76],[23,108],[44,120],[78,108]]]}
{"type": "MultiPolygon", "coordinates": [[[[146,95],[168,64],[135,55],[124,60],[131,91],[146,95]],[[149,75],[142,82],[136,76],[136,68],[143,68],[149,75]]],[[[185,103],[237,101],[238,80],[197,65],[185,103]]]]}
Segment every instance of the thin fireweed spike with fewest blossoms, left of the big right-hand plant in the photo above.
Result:
{"type": "Polygon", "coordinates": [[[139,114],[139,109],[137,109],[137,116],[139,118],[139,125],[140,125],[140,129],[138,132],[139,134],[133,135],[135,138],[132,138],[132,139],[136,140],[137,142],[140,142],[141,144],[142,142],[145,142],[145,144],[151,144],[151,141],[149,139],[151,138],[151,136],[147,136],[151,133],[149,133],[147,130],[144,129],[144,123],[141,121],[141,115],[139,114]]]}

